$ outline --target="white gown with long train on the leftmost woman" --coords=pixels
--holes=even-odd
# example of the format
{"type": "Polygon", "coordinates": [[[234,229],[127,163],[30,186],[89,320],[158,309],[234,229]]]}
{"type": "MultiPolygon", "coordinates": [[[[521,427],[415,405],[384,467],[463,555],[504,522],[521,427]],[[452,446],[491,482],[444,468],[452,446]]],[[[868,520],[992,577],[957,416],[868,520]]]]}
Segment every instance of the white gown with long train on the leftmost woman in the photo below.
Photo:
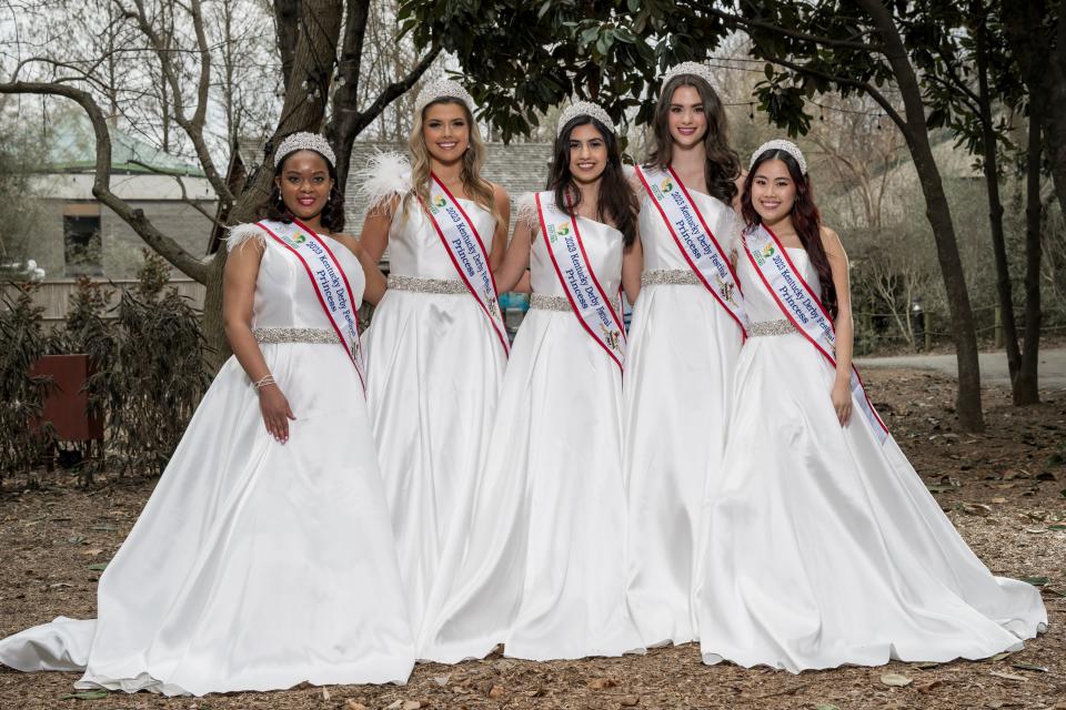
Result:
{"type": "MultiPolygon", "coordinates": [[[[248,239],[262,233],[240,227],[230,248],[248,239]]],[[[264,243],[253,327],[332,332],[302,263],[264,243]]],[[[358,303],[359,261],[332,246],[358,303]]],[[[412,635],[355,368],[335,342],[261,348],[296,416],[288,443],[231,357],[100,578],[98,618],[9,637],[0,662],[168,696],[406,680],[412,635]]]]}

